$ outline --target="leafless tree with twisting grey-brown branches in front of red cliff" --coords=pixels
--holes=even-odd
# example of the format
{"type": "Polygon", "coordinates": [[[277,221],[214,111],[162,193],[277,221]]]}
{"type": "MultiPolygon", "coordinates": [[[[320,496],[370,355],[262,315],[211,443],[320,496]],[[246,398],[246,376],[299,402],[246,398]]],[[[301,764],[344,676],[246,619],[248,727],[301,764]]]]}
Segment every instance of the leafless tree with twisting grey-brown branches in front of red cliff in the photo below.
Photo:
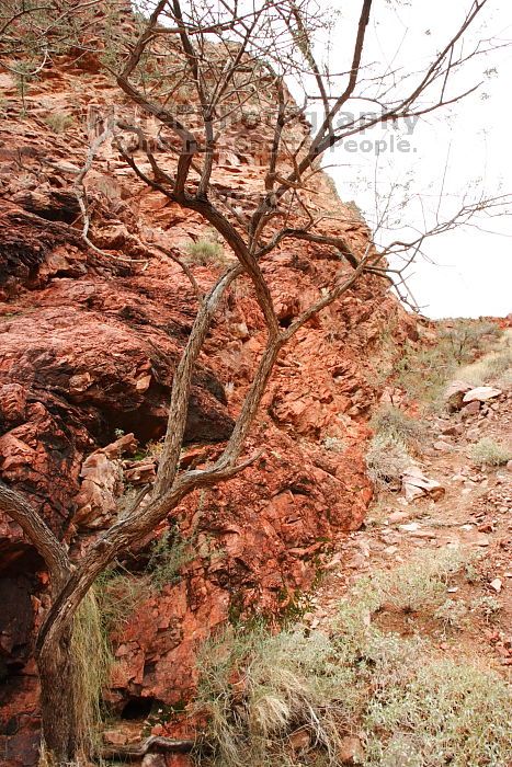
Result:
{"type": "MultiPolygon", "coordinates": [[[[77,610],[98,575],[172,513],[189,493],[226,482],[255,460],[254,455],[242,455],[246,437],[280,352],[305,323],[350,290],[363,275],[399,284],[402,270],[390,270],[387,256],[402,253],[407,260],[413,259],[429,233],[444,231],[489,205],[482,199],[466,204],[457,215],[439,221],[431,232],[419,233],[414,241],[394,242],[379,250],[368,231],[363,252],[351,247],[335,215],[318,215],[314,209],[311,185],[327,150],[372,125],[419,117],[467,95],[474,88],[455,90],[455,75],[482,49],[492,47],[491,41],[476,49],[462,45],[466,32],[487,5],[487,0],[479,0],[469,2],[459,27],[439,46],[422,72],[375,71],[364,58],[374,4],[373,0],[361,0],[351,60],[344,72],[330,71],[317,60],[315,36],[326,22],[312,0],[257,0],[247,4],[238,0],[159,0],[148,15],[137,16],[136,24],[127,24],[127,31],[117,31],[114,48],[107,51],[109,56],[103,55],[104,71],[115,78],[140,114],[158,123],[159,151],[164,151],[166,167],[155,149],[155,136],[140,121],[130,123],[125,116],[111,115],[101,136],[92,141],[75,184],[88,244],[94,248],[81,184],[102,142],[111,140],[139,180],[183,209],[200,214],[224,239],[236,261],[201,298],[173,378],[155,484],[132,500],[79,561],[70,560],[65,546],[19,492],[0,484],[0,508],[20,524],[50,575],[52,606],[37,637],[35,654],[42,687],[43,739],[48,758],[55,764],[91,756],[77,711],[73,677],[78,669],[72,633],[77,610]],[[304,82],[300,105],[287,88],[294,77],[304,82]],[[181,94],[183,89],[185,98],[181,94]],[[361,99],[369,102],[373,111],[341,123],[339,116],[345,105],[361,99]],[[185,110],[184,102],[192,110],[185,110]],[[318,125],[310,134],[304,125],[311,104],[318,125]],[[258,198],[235,199],[216,182],[217,152],[227,122],[248,118],[248,110],[264,115],[272,141],[261,194],[258,198]],[[294,134],[297,126],[301,129],[294,134]],[[127,136],[134,135],[138,149],[145,153],[144,163],[128,148],[127,136]],[[170,156],[174,158],[171,164],[170,156]],[[282,243],[294,241],[330,248],[339,268],[319,299],[282,328],[262,266],[282,243]],[[204,469],[180,471],[194,367],[224,294],[241,275],[252,282],[265,322],[266,345],[220,457],[204,469]]],[[[23,65],[25,78],[38,66],[46,66],[57,44],[69,45],[69,25],[75,30],[73,41],[80,51],[88,51],[90,46],[83,43],[81,33],[91,27],[91,13],[103,8],[100,2],[54,0],[41,7],[16,2],[8,5],[0,36],[4,60],[14,72],[22,71],[16,64],[16,56],[23,60],[20,30],[31,32],[34,66],[26,69],[23,65]]]]}

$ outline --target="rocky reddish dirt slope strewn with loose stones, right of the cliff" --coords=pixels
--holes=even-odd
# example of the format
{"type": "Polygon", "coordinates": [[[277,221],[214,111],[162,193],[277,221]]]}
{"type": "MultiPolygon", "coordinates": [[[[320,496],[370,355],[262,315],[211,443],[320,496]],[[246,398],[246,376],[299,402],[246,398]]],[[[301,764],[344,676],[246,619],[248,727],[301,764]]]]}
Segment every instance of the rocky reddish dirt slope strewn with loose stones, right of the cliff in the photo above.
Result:
{"type": "Polygon", "coordinates": [[[502,672],[512,667],[512,471],[477,467],[471,444],[491,437],[512,447],[512,391],[483,404],[478,413],[458,411],[430,416],[428,442],[419,461],[422,471],[445,489],[436,502],[406,501],[385,492],[368,513],[366,524],[339,541],[328,573],[311,599],[305,620],[311,628],[327,625],[337,606],[362,575],[392,570],[419,551],[459,549],[471,562],[471,577],[460,576],[446,597],[464,602],[467,616],[447,628],[432,616],[387,616],[387,628],[402,636],[420,631],[453,657],[478,657],[502,672]],[[492,597],[492,615],[471,605],[492,597]]]}

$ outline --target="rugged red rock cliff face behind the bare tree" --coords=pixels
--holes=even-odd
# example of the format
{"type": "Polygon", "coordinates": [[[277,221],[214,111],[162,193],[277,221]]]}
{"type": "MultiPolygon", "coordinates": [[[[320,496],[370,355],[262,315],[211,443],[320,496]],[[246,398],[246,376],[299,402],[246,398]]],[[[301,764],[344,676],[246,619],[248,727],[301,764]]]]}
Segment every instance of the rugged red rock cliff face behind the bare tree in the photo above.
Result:
{"type": "MultiPolygon", "coordinates": [[[[198,217],[137,181],[109,145],[87,192],[91,238],[112,257],[81,239],[72,186],[87,153],[82,126],[92,107],[101,113],[117,98],[95,70],[91,59],[55,60],[31,85],[23,113],[15,83],[0,70],[0,474],[77,553],[110,524],[127,488],[153,474],[173,370],[197,308],[183,272],[155,245],[185,254],[206,233],[198,217]],[[116,261],[126,255],[143,263],[116,261]]],[[[260,192],[268,133],[252,114],[223,139],[215,184],[236,192],[241,207],[260,192]]],[[[342,214],[326,176],[316,184],[316,208],[342,214]]],[[[332,226],[355,250],[364,248],[363,221],[348,215],[332,226]]],[[[338,267],[327,249],[307,243],[283,247],[269,261],[283,327],[338,267]]],[[[192,265],[203,289],[219,268],[192,265]]],[[[249,447],[264,447],[262,457],[178,510],[194,556],[178,580],[140,596],[114,637],[109,698],[117,713],[144,718],[152,703],[181,705],[193,689],[196,648],[212,630],[294,605],[314,583],[329,541],[362,524],[372,496],[363,454],[379,396],[382,330],[395,318],[397,340],[414,333],[385,290],[366,277],[298,333],[250,437],[249,447]]],[[[263,341],[257,301],[241,279],[196,370],[184,463],[211,458],[229,435],[263,341]]],[[[127,566],[140,569],[150,542],[127,553],[127,566]]],[[[47,579],[30,541],[4,517],[0,553],[0,748],[2,764],[19,767],[35,760],[31,645],[47,579]]]]}

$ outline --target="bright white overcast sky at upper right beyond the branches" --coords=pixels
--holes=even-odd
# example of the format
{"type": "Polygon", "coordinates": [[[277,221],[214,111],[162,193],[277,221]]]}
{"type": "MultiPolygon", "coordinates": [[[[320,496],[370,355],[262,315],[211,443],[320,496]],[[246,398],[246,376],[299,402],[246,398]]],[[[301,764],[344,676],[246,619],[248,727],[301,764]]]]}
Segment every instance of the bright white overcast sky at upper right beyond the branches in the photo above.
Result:
{"type": "MultiPolygon", "coordinates": [[[[331,61],[334,66],[346,65],[346,55],[351,54],[349,41],[353,42],[354,19],[361,0],[346,0],[340,4],[344,15],[332,34],[331,61]]],[[[447,43],[470,5],[471,0],[375,0],[366,61],[379,61],[380,67],[382,62],[392,62],[394,67],[401,66],[405,71],[420,69],[429,53],[447,43]]],[[[468,39],[490,35],[512,39],[510,0],[489,0],[489,5],[482,18],[483,24],[479,22],[468,39]]],[[[364,137],[355,137],[355,152],[348,152],[343,146],[332,151],[326,164],[338,164],[329,172],[342,198],[354,199],[368,220],[374,220],[373,180],[376,174],[383,193],[391,183],[410,184],[410,192],[396,191],[397,206],[412,193],[418,193],[425,207],[434,210],[446,163],[442,213],[448,214],[454,206],[458,209],[470,190],[473,197],[480,191],[486,196],[512,192],[512,47],[488,54],[469,65],[457,85],[463,91],[470,88],[481,79],[482,71],[491,67],[497,67],[498,75],[486,78],[479,92],[455,106],[420,118],[410,136],[405,128],[399,128],[398,133],[396,128],[376,128],[364,137]],[[388,149],[376,161],[373,152],[361,151],[362,139],[375,141],[380,138],[389,142],[391,134],[396,138],[408,138],[411,152],[390,152],[388,149]]],[[[351,104],[348,108],[364,110],[368,105],[356,107],[351,104]]],[[[409,225],[421,226],[422,214],[417,199],[399,209],[397,217],[409,225]]],[[[409,285],[423,313],[439,318],[512,312],[512,218],[479,219],[478,224],[490,233],[471,227],[437,236],[424,249],[435,263],[416,262],[409,285]]],[[[387,233],[384,241],[396,239],[396,233],[387,233]]]]}

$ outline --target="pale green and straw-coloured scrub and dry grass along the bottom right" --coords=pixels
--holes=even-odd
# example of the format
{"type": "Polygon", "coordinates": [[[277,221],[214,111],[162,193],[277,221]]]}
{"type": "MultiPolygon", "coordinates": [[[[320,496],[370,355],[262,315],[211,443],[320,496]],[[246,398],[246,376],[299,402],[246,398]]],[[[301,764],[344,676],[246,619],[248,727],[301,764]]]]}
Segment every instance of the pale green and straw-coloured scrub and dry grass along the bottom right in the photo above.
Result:
{"type": "MultiPolygon", "coordinates": [[[[443,585],[458,566],[443,556],[428,580],[443,585]]],[[[197,708],[208,717],[213,755],[196,753],[197,764],[333,766],[341,739],[354,733],[367,767],[508,764],[507,684],[491,672],[440,660],[422,639],[377,629],[367,585],[340,605],[326,632],[293,627],[272,636],[258,627],[230,630],[205,645],[197,708]]],[[[375,584],[371,592],[383,595],[375,584]]],[[[437,603],[437,588],[435,598],[422,598],[437,603]]]]}

